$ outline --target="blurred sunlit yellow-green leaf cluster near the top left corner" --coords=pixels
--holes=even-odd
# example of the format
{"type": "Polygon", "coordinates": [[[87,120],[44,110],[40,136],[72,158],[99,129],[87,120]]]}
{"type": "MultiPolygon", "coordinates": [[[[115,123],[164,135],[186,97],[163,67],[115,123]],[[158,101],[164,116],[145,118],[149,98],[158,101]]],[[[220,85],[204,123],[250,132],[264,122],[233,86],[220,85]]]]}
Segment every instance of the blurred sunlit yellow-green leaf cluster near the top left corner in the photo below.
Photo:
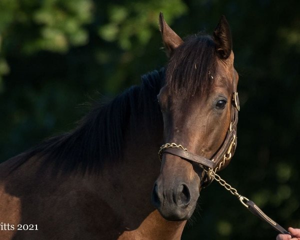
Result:
{"type": "Polygon", "coordinates": [[[27,15],[29,22],[39,26],[38,35],[24,39],[22,50],[27,54],[38,50],[65,52],[72,45],[86,44],[84,25],[92,20],[92,5],[91,0],[41,1],[38,8],[32,7],[32,15],[27,15]]]}

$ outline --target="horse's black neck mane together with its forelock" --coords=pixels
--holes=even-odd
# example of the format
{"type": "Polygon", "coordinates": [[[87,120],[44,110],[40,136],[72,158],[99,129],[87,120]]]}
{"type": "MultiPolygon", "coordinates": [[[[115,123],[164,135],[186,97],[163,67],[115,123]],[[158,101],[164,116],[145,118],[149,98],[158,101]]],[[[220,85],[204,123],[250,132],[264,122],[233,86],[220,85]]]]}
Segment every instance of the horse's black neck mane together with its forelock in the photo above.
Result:
{"type": "Polygon", "coordinates": [[[156,96],[164,84],[169,94],[180,92],[183,97],[204,92],[213,81],[215,59],[211,36],[187,37],[174,50],[166,70],[142,75],[140,85],[131,86],[107,104],[96,105],[74,130],[21,153],[13,169],[38,155],[45,163],[54,163],[55,169],[99,171],[105,162],[121,158],[127,132],[134,134],[138,127],[162,124],[156,96]]]}

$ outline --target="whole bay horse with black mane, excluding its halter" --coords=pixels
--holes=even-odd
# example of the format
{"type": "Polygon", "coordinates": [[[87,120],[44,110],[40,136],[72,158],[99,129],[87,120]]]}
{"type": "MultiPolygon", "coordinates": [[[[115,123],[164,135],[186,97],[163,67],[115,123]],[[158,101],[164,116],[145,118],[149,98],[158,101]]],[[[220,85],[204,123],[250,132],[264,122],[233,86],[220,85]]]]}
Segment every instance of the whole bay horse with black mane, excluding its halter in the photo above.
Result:
{"type": "Polygon", "coordinates": [[[178,155],[160,163],[157,150],[177,142],[211,159],[238,75],[224,16],[212,36],[184,41],[162,13],[159,24],[165,68],[0,164],[1,239],[180,239],[207,176],[178,155]]]}

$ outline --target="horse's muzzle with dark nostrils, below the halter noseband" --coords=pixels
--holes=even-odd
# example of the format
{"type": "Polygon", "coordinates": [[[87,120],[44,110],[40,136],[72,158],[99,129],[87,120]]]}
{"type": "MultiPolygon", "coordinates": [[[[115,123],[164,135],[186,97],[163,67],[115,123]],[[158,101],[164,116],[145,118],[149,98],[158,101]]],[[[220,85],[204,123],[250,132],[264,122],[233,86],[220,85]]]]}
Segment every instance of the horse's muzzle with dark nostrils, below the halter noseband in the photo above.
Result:
{"type": "Polygon", "coordinates": [[[200,179],[189,162],[173,155],[166,158],[154,183],[151,201],[165,219],[186,220],[195,209],[200,179]],[[174,167],[176,163],[181,167],[174,167]]]}

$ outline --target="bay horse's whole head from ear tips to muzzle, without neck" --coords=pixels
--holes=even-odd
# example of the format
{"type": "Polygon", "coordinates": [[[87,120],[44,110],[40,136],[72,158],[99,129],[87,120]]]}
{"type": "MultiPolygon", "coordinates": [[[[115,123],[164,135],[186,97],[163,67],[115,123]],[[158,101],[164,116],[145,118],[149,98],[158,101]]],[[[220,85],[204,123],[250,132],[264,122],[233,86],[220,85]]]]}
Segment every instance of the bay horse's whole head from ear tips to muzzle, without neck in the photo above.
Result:
{"type": "MultiPolygon", "coordinates": [[[[169,57],[165,82],[157,95],[164,142],[168,143],[162,149],[172,147],[183,153],[159,152],[161,168],[151,200],[167,220],[185,220],[194,211],[199,191],[208,181],[207,169],[213,168],[207,167],[205,161],[215,163],[228,129],[231,131],[233,108],[239,107],[238,75],[233,67],[231,33],[224,16],[212,36],[194,35],[184,41],[167,25],[162,13],[159,24],[169,57]],[[197,164],[192,157],[184,157],[185,152],[206,160],[197,164]]],[[[230,157],[225,159],[224,155],[215,170],[229,163],[228,151],[236,144],[235,135],[229,144],[230,150],[226,148],[224,154],[230,153],[230,157]]]]}

